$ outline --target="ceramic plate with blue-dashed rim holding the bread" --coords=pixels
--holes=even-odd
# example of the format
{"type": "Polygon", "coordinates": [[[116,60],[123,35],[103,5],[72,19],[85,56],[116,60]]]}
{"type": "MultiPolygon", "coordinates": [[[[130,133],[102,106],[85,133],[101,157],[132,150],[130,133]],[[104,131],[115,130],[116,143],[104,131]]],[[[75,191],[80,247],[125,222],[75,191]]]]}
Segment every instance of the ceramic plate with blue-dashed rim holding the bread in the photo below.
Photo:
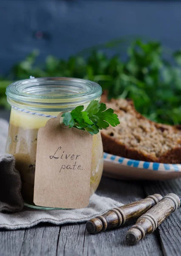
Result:
{"type": "Polygon", "coordinates": [[[181,164],[144,162],[104,153],[103,175],[117,179],[175,179],[181,177],[181,164]]]}

